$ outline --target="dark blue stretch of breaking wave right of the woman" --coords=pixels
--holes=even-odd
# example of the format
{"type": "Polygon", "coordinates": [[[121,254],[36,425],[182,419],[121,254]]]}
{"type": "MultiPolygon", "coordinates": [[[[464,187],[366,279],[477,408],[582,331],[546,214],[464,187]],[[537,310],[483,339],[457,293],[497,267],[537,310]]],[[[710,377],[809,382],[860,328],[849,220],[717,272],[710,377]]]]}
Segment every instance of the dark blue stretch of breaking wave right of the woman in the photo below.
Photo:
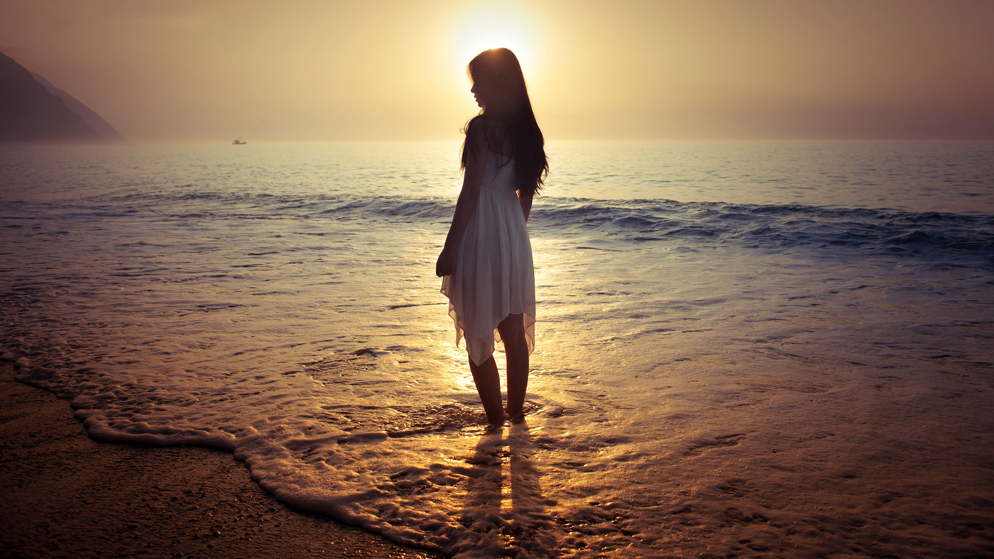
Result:
{"type": "Polygon", "coordinates": [[[924,258],[951,252],[994,259],[994,216],[669,200],[551,202],[535,210],[537,223],[603,231],[629,243],[739,243],[924,258]]]}

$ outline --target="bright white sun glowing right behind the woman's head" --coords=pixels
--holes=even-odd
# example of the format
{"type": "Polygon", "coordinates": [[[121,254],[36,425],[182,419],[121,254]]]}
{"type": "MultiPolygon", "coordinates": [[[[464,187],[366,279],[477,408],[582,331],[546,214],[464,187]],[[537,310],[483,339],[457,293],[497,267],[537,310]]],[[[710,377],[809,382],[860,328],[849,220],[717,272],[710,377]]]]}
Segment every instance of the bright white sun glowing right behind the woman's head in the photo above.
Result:
{"type": "Polygon", "coordinates": [[[465,72],[466,64],[487,49],[510,49],[527,79],[535,70],[531,18],[514,4],[477,4],[456,18],[456,63],[465,72]]]}

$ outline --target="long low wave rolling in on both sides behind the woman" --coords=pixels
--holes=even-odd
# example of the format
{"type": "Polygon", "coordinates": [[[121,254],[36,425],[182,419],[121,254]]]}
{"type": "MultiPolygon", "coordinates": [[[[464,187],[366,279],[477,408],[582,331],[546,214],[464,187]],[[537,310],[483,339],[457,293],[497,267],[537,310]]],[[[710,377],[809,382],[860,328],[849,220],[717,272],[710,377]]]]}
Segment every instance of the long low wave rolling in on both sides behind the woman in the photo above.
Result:
{"type": "MultiPolygon", "coordinates": [[[[410,196],[189,191],[135,193],[100,202],[88,209],[94,217],[150,208],[176,219],[421,222],[432,228],[447,223],[455,208],[452,200],[410,196]]],[[[603,243],[621,245],[614,249],[647,243],[735,244],[772,253],[874,254],[994,266],[994,216],[989,215],[542,197],[533,208],[531,229],[539,236],[599,234],[603,243]]]]}

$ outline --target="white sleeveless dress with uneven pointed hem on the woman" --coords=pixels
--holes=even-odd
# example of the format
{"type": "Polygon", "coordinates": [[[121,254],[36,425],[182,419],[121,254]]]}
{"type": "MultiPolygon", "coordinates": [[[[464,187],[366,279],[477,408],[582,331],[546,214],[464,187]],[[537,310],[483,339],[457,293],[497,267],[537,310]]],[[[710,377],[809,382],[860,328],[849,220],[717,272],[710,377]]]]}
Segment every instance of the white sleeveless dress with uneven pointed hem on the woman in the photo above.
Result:
{"type": "Polygon", "coordinates": [[[441,280],[448,315],[455,321],[455,344],[466,338],[476,365],[493,355],[500,341],[497,324],[508,314],[524,314],[528,352],[535,349],[535,269],[514,165],[514,159],[487,152],[476,208],[456,249],[455,271],[441,280]]]}

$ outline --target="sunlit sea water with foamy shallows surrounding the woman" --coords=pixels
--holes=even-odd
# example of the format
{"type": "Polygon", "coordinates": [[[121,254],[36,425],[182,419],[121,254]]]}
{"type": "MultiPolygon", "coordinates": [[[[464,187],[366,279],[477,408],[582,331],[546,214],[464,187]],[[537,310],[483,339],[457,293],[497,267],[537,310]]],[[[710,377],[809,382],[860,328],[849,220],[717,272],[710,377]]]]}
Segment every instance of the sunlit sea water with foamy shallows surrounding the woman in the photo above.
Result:
{"type": "Polygon", "coordinates": [[[552,142],[499,431],[433,274],[457,152],[4,146],[4,358],[460,557],[994,553],[994,143],[552,142]]]}

